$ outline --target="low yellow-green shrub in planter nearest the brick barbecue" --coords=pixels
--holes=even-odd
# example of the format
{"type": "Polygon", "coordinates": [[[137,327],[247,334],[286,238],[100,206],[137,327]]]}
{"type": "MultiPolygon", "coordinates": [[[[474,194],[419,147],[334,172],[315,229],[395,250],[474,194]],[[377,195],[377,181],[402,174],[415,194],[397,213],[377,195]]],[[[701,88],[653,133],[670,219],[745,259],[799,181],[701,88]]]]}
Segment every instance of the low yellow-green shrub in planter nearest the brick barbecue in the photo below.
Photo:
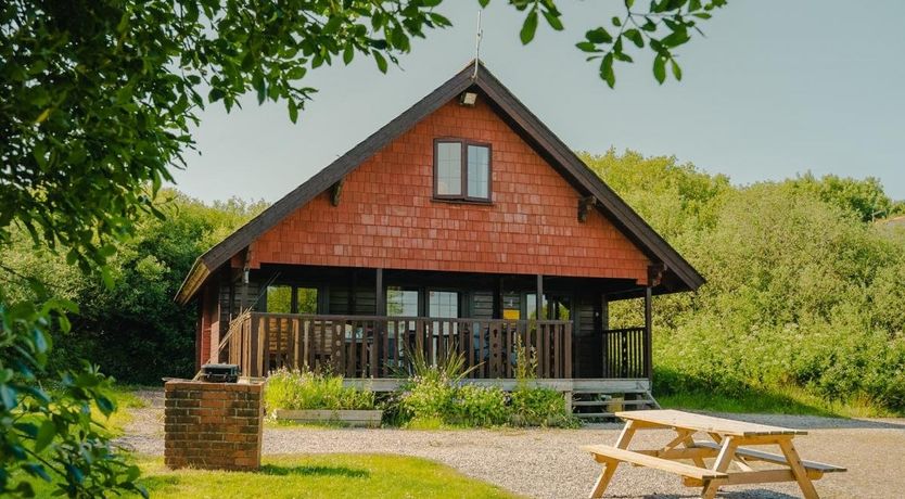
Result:
{"type": "Polygon", "coordinates": [[[343,376],[288,371],[270,373],[264,400],[272,409],[370,410],[374,408],[371,391],[343,386],[343,376]]]}

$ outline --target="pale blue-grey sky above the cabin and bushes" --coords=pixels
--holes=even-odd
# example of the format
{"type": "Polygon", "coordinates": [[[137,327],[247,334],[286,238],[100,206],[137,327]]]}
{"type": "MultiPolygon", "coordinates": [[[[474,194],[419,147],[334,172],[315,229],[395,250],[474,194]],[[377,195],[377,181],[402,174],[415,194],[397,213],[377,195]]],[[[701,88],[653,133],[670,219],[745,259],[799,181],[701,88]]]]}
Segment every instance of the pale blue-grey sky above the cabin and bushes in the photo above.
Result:
{"type": "MultiPolygon", "coordinates": [[[[522,15],[492,2],[481,59],[572,149],[675,155],[741,184],[872,176],[905,199],[905,2],[736,0],[680,50],[681,82],[658,86],[645,55],[617,66],[615,90],[574,43],[621,1],[559,4],[566,30],[541,26],[522,47],[522,15]]],[[[477,2],[439,12],[455,27],[416,40],[387,75],[360,56],[309,73],[320,92],[296,125],[282,104],[208,108],[178,188],[205,201],[286,194],[471,60],[477,2]]]]}

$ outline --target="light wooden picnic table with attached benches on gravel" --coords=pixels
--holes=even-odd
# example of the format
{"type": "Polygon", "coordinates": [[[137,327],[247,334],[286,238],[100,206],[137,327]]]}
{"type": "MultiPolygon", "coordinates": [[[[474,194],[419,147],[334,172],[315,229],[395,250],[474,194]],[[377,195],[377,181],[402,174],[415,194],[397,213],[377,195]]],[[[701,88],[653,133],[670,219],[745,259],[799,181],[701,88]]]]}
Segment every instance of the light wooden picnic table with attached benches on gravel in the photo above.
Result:
{"type": "Polygon", "coordinates": [[[747,423],[677,410],[642,410],[616,412],[625,420],[625,426],[614,447],[590,445],[582,447],[602,465],[600,477],[590,497],[603,497],[603,491],[621,462],[652,468],[680,475],[684,485],[703,487],[701,497],[713,498],[721,486],[798,482],[805,498],[817,498],[812,481],[824,473],[845,471],[844,468],[814,461],[803,461],[792,440],[806,435],[802,430],[791,430],[765,424],[747,423]],[[673,430],[675,438],[660,449],[628,450],[628,444],[639,430],[673,430]],[[710,440],[694,440],[703,433],[710,440]],[[744,446],[744,447],[742,447],[744,446]],[[752,446],[778,446],[781,453],[769,453],[752,446]],[[709,466],[706,459],[714,459],[709,466]],[[691,461],[686,464],[680,461],[691,461]],[[753,469],[752,461],[778,465],[774,469],[753,469]],[[735,463],[738,471],[729,471],[735,463]]]}

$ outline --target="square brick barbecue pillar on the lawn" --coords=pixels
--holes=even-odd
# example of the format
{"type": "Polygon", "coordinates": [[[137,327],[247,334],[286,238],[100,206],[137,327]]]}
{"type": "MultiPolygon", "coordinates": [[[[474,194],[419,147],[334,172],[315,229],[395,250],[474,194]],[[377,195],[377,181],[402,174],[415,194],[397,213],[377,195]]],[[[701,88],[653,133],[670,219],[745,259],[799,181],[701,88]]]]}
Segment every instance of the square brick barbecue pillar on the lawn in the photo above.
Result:
{"type": "Polygon", "coordinates": [[[257,470],[264,383],[168,381],[164,462],[168,468],[257,470]]]}

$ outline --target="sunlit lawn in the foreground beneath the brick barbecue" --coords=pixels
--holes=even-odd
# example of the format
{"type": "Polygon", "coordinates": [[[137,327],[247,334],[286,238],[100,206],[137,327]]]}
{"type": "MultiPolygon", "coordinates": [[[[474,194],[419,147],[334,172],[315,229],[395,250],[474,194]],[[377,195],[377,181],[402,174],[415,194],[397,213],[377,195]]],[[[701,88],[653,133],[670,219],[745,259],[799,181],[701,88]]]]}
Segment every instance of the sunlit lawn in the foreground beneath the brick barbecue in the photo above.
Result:
{"type": "MultiPolygon", "coordinates": [[[[451,468],[393,455],[267,457],[258,472],[173,471],[161,458],[138,458],[139,483],[154,498],[515,498],[451,468]]],[[[38,485],[43,497],[52,488],[38,485]]]]}

